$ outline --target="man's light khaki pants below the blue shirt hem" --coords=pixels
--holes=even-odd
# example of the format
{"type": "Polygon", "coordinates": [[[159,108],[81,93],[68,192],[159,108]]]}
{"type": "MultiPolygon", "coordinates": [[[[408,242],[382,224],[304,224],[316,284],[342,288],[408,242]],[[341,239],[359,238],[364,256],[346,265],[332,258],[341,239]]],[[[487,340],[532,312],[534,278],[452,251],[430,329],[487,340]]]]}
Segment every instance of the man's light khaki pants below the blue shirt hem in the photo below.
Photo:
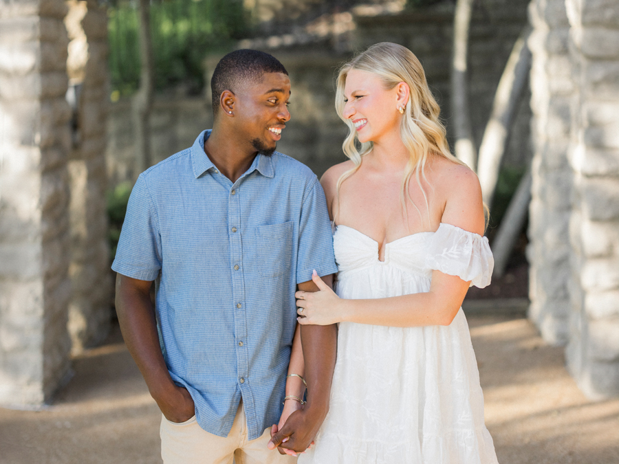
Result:
{"type": "Polygon", "coordinates": [[[243,401],[239,405],[228,437],[217,437],[202,430],[195,416],[186,422],[173,423],[162,416],[161,457],[164,464],[294,464],[294,456],[269,450],[270,428],[248,441],[243,401]]]}

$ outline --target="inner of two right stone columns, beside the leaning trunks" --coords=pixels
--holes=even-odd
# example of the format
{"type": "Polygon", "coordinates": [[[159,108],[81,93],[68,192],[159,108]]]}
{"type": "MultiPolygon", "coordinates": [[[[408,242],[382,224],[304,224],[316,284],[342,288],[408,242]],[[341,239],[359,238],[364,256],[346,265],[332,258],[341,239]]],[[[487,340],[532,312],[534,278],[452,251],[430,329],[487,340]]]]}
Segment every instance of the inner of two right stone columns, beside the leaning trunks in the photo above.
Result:
{"type": "Polygon", "coordinates": [[[570,277],[567,240],[572,170],[570,102],[574,92],[565,0],[532,0],[532,201],[528,236],[529,317],[546,342],[563,345],[569,334],[570,277]]]}

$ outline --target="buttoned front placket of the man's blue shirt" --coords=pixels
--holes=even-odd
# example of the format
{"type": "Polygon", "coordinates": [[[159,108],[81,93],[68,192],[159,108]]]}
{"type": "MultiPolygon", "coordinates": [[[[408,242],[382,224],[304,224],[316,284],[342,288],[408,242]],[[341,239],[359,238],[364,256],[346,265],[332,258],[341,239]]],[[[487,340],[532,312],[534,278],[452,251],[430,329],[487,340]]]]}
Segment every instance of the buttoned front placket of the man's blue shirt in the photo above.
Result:
{"type": "Polygon", "coordinates": [[[248,397],[248,344],[247,309],[243,268],[243,224],[241,223],[241,193],[238,182],[228,195],[228,236],[230,239],[230,263],[232,265],[232,311],[235,313],[235,345],[237,353],[237,381],[241,395],[248,397]]]}

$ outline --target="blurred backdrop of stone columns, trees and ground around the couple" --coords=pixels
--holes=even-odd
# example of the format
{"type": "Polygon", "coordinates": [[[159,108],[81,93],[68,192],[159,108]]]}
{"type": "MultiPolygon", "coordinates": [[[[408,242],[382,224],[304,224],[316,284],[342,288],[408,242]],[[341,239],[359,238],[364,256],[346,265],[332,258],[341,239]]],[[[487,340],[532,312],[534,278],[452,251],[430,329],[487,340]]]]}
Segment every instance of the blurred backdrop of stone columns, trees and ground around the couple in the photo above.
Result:
{"type": "Polygon", "coordinates": [[[210,128],[237,48],[279,58],[278,150],[345,159],[338,66],[409,47],[490,206],[464,302],[503,463],[619,463],[617,0],[0,1],[0,463],[158,463],[109,266],[133,182],[210,128]]]}

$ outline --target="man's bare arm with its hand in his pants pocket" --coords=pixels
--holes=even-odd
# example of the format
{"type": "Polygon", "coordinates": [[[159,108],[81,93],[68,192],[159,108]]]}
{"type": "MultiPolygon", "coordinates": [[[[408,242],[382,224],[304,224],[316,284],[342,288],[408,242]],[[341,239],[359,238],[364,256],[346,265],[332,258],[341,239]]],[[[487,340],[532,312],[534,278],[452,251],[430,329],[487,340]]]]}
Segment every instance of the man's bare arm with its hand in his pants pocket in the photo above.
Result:
{"type": "Polygon", "coordinates": [[[118,322],[129,353],[163,415],[169,421],[183,422],[195,414],[195,406],[186,388],[173,382],[161,353],[151,285],[147,280],[116,275],[118,322]]]}

